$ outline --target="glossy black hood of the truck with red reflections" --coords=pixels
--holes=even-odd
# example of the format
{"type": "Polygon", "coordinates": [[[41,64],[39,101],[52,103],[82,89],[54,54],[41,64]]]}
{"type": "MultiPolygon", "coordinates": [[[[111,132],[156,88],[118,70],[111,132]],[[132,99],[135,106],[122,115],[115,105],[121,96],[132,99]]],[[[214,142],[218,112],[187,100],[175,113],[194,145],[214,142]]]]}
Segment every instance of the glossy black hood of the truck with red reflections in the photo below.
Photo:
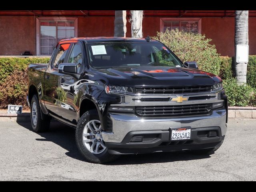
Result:
{"type": "Polygon", "coordinates": [[[221,81],[212,73],[182,67],[120,67],[96,72],[109,78],[111,85],[120,86],[201,86],[221,81]]]}

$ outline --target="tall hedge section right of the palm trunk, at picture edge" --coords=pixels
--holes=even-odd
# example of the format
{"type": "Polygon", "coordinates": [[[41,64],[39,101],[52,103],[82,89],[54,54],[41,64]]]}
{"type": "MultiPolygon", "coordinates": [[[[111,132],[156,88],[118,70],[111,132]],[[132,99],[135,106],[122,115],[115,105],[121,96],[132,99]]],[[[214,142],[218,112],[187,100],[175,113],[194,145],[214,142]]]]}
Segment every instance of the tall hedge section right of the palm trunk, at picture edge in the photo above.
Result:
{"type": "Polygon", "coordinates": [[[256,88],[256,55],[250,55],[247,64],[246,82],[248,85],[256,88]]]}

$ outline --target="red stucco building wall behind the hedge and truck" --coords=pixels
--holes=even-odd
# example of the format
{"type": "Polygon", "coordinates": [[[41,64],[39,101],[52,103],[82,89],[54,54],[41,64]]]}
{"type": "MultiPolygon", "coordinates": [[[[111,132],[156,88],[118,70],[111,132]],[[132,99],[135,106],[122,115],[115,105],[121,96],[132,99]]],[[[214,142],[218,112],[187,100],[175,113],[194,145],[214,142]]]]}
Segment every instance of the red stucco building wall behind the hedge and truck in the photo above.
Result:
{"type": "MultiPolygon", "coordinates": [[[[131,36],[127,18],[126,36],[131,36]]],[[[34,16],[0,16],[0,55],[20,55],[25,51],[35,54],[34,16]]],[[[144,36],[155,36],[160,30],[160,17],[143,20],[144,36]]],[[[234,17],[202,18],[202,34],[212,39],[218,53],[234,56],[234,17]]],[[[114,36],[114,16],[78,17],[78,37],[114,36]]],[[[256,55],[256,18],[249,18],[249,54],[256,55]]]]}

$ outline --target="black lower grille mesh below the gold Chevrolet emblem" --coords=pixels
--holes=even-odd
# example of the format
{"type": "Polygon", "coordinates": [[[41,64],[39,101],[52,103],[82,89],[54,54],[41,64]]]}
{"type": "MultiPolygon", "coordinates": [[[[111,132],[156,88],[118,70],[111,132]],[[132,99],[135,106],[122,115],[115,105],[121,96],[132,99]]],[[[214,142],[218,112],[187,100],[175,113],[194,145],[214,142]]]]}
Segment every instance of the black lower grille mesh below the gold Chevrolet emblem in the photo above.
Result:
{"type": "Polygon", "coordinates": [[[192,104],[176,106],[138,106],[136,114],[141,117],[177,117],[209,114],[212,104],[192,104]]]}

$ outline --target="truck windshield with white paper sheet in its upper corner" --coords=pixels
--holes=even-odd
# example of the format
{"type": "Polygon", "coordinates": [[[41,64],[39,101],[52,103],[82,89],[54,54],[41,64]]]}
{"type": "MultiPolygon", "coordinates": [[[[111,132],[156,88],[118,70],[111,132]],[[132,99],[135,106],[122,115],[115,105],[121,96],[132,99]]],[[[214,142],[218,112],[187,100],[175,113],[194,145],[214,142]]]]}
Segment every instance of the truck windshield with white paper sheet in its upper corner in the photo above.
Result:
{"type": "Polygon", "coordinates": [[[89,43],[87,48],[90,65],[98,69],[128,66],[182,67],[176,56],[161,43],[89,43]]]}

